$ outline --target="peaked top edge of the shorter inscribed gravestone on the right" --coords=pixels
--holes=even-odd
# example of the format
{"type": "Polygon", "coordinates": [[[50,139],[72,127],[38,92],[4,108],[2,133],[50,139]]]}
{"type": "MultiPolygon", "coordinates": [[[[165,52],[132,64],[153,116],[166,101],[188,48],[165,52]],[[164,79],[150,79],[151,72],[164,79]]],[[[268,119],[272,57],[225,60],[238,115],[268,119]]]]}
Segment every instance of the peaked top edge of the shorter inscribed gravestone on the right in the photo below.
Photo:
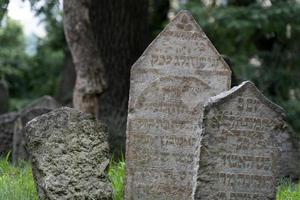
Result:
{"type": "MultiPolygon", "coordinates": [[[[222,92],[214,97],[209,98],[205,107],[210,108],[216,105],[223,104],[224,102],[232,99],[237,94],[244,92],[245,90],[251,91],[251,93],[256,96],[262,103],[268,106],[273,111],[277,112],[281,116],[285,116],[285,110],[279,105],[271,102],[266,96],[264,96],[261,91],[252,83],[251,81],[244,81],[240,85],[231,88],[226,92],[222,92]]],[[[206,109],[207,110],[207,109],[206,109]]]]}

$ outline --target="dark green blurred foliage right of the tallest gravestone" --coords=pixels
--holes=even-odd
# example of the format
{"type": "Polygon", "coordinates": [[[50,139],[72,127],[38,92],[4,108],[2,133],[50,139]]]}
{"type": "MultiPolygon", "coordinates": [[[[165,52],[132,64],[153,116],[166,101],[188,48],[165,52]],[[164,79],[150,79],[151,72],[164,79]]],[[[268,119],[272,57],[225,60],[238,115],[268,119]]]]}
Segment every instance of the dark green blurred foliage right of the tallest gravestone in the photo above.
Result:
{"type": "Polygon", "coordinates": [[[300,132],[300,3],[272,1],[263,6],[252,1],[238,6],[237,2],[205,6],[191,1],[187,8],[229,60],[237,82],[255,82],[286,109],[288,121],[300,132]]]}

